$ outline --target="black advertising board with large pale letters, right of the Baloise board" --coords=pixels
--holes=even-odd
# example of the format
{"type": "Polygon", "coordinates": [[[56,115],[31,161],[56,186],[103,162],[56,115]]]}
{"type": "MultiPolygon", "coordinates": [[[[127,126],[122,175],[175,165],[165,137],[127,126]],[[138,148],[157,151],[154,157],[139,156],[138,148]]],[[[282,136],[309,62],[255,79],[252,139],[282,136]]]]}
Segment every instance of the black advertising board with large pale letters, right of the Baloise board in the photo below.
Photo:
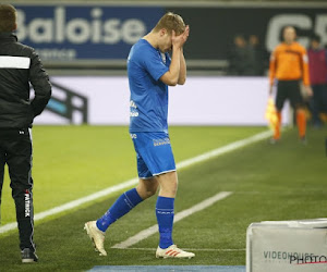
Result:
{"type": "Polygon", "coordinates": [[[235,35],[257,35],[267,51],[280,41],[287,25],[295,26],[299,41],[307,47],[310,36],[318,34],[327,46],[327,7],[271,8],[261,7],[192,7],[167,8],[181,14],[190,24],[191,35],[185,46],[192,60],[225,60],[235,35]]]}

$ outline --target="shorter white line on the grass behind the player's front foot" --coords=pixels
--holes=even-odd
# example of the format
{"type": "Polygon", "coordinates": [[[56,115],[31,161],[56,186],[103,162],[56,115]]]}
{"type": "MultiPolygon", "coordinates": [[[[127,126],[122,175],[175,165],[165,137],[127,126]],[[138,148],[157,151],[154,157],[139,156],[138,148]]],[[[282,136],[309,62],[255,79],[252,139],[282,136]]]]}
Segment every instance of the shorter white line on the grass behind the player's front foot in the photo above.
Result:
{"type": "MultiPolygon", "coordinates": [[[[186,217],[189,217],[189,215],[191,215],[191,214],[193,214],[197,211],[202,211],[202,210],[208,208],[209,206],[214,205],[215,202],[217,202],[217,201],[219,201],[223,198],[227,198],[231,194],[232,194],[232,191],[220,191],[217,195],[215,195],[210,198],[207,198],[206,200],[191,207],[190,209],[178,212],[174,215],[173,223],[177,223],[180,220],[182,220],[182,219],[184,219],[184,218],[186,218],[186,217]]],[[[153,225],[153,226],[135,234],[134,236],[128,238],[126,240],[124,240],[122,243],[113,245],[111,248],[128,248],[128,247],[133,246],[136,243],[143,240],[143,239],[146,239],[147,237],[149,237],[150,235],[153,235],[157,232],[158,232],[158,225],[156,224],[156,225],[153,225]]]]}

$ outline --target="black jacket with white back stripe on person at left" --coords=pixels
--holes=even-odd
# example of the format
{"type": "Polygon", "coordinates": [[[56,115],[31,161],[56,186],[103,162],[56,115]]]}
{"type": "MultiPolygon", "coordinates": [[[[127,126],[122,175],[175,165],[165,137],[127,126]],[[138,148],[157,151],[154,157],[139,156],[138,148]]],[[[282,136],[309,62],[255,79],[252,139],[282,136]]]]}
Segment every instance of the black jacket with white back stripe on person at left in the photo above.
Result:
{"type": "Polygon", "coordinates": [[[50,96],[49,76],[35,50],[17,42],[13,33],[0,33],[0,129],[32,127],[50,96]]]}

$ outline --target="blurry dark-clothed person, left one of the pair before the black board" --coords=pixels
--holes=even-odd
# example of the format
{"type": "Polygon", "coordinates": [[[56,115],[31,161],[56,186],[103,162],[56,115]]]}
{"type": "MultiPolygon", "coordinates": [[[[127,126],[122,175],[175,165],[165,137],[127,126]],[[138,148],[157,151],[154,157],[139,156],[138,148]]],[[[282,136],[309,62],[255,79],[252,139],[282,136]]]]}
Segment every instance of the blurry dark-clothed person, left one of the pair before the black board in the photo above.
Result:
{"type": "Polygon", "coordinates": [[[255,75],[255,53],[243,35],[234,37],[234,45],[228,53],[229,75],[255,75]]]}

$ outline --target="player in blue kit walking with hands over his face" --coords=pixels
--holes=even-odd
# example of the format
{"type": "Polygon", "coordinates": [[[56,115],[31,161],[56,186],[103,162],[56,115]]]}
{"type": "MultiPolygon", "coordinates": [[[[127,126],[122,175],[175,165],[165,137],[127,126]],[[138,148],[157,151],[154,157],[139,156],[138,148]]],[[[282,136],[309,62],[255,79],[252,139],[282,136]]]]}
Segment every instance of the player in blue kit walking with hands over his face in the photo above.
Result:
{"type": "Polygon", "coordinates": [[[186,79],[183,45],[189,33],[182,17],[168,12],[130,51],[130,134],[136,151],[140,183],[136,188],[122,194],[100,219],[85,224],[96,250],[102,256],[107,256],[104,242],[109,225],[154,196],[160,187],[156,203],[160,234],[156,257],[194,257],[172,242],[178,176],[167,124],[168,85],[183,85],[186,79]]]}

